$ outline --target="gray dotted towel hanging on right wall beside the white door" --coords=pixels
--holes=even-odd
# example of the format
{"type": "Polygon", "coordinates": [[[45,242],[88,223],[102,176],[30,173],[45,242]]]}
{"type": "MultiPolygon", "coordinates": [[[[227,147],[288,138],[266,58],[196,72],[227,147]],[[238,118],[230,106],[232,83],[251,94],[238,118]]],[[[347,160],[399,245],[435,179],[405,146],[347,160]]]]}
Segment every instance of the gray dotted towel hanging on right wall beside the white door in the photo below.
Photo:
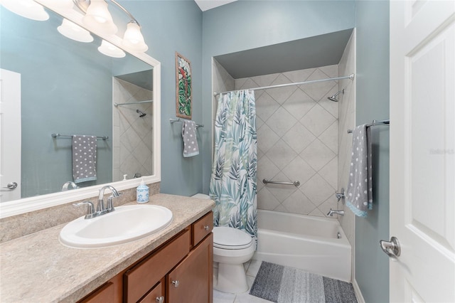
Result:
{"type": "Polygon", "coordinates": [[[373,208],[371,171],[370,128],[363,124],[353,131],[353,151],[346,191],[346,205],[356,216],[366,217],[368,209],[373,208]]]}

